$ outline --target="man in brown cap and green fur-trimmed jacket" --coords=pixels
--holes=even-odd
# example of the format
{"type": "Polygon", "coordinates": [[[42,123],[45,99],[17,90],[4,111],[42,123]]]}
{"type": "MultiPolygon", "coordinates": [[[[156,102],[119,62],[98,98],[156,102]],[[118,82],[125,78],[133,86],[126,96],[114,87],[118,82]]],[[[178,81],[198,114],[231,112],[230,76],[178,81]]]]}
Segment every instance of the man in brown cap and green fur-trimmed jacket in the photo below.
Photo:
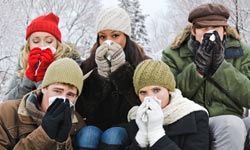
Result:
{"type": "Polygon", "coordinates": [[[250,108],[250,48],[228,18],[220,4],[196,7],[191,25],[163,51],[162,60],[183,95],[209,111],[211,149],[243,150],[250,126],[249,117],[243,118],[243,107],[250,108]]]}

